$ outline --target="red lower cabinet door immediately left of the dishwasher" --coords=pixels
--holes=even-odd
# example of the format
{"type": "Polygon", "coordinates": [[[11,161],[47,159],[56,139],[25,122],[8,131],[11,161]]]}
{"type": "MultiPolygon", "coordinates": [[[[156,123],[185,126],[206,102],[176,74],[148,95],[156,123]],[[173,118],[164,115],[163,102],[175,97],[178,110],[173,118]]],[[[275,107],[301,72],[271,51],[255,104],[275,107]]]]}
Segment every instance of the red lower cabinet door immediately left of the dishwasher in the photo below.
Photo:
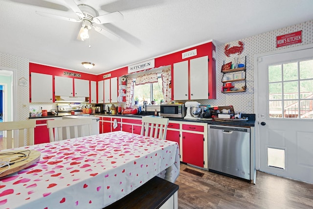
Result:
{"type": "Polygon", "coordinates": [[[182,161],[203,167],[203,134],[182,132],[182,161]]]}

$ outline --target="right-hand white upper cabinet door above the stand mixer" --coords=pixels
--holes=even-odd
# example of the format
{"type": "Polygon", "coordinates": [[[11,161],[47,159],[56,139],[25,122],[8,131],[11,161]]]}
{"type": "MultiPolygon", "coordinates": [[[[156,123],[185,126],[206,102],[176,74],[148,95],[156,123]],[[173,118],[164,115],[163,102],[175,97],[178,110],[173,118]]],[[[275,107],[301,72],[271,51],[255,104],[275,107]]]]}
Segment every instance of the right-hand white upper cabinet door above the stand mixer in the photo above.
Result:
{"type": "Polygon", "coordinates": [[[208,99],[208,56],[190,60],[190,99],[208,99]]]}

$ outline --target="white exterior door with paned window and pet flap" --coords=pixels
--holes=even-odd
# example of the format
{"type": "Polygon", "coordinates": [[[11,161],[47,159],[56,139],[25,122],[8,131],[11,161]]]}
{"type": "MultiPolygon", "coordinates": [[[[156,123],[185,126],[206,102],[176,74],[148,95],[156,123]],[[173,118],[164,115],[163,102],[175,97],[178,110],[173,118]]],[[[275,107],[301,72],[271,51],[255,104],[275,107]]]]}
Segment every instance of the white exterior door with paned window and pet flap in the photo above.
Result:
{"type": "Polygon", "coordinates": [[[260,170],[313,183],[313,48],[258,58],[260,170]]]}

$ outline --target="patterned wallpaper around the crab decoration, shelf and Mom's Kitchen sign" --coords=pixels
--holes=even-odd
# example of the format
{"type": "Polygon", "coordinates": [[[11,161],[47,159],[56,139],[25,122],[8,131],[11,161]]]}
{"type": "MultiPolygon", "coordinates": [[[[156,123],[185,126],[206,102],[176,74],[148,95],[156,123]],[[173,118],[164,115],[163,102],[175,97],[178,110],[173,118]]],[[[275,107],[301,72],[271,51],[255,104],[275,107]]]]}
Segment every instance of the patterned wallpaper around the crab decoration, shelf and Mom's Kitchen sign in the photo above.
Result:
{"type": "MultiPolygon", "coordinates": [[[[213,37],[214,38],[214,37],[213,37]]],[[[289,27],[281,28],[278,30],[262,33],[256,36],[251,36],[245,39],[233,41],[229,44],[231,46],[239,46],[238,41],[244,43],[244,50],[240,55],[241,62],[244,63],[246,56],[246,92],[243,93],[221,93],[221,88],[223,83],[221,82],[223,73],[221,73],[221,68],[224,63],[234,62],[234,58],[238,55],[231,54],[227,57],[224,54],[224,46],[220,45],[216,48],[216,97],[217,99],[205,99],[199,100],[201,105],[211,105],[211,106],[224,106],[233,105],[236,112],[242,112],[251,114],[254,113],[254,70],[253,57],[255,54],[266,53],[270,51],[280,50],[284,48],[307,45],[313,43],[313,20],[305,23],[300,23],[292,25],[289,27]],[[302,30],[302,43],[283,46],[276,48],[276,36],[288,34],[291,32],[302,30]]],[[[242,83],[236,82],[235,88],[241,88],[242,83]]]]}

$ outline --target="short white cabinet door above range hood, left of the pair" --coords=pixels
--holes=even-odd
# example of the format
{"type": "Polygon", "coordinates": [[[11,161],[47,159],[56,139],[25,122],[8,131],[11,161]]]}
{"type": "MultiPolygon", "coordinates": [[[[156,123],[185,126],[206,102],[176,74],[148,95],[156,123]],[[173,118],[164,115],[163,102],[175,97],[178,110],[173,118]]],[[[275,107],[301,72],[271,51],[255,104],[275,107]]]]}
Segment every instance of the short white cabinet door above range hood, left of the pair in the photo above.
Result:
{"type": "Polygon", "coordinates": [[[73,79],[63,76],[54,76],[54,95],[74,96],[73,79]]]}

